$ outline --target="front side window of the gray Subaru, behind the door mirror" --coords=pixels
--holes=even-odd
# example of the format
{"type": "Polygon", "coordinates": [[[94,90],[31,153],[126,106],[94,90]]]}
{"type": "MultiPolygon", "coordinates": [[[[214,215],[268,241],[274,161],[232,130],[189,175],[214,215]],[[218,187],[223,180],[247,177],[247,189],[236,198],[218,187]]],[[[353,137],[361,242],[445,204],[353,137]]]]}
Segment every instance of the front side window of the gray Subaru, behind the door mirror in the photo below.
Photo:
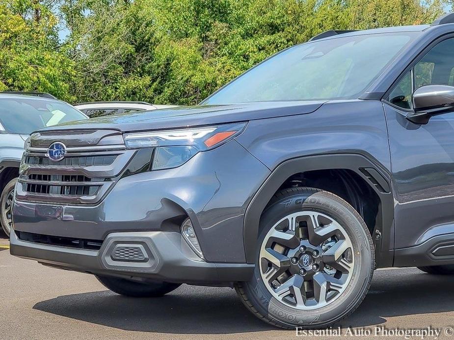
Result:
{"type": "Polygon", "coordinates": [[[454,38],[433,47],[391,91],[388,101],[411,109],[413,92],[425,85],[454,86],[454,38]]]}

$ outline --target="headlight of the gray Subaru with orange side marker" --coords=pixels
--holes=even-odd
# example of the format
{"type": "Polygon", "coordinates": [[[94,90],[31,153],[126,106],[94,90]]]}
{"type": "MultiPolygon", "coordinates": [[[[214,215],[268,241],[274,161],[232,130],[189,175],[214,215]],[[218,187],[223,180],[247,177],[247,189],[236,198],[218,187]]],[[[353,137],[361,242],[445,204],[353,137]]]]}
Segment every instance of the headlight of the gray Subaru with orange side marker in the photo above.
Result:
{"type": "Polygon", "coordinates": [[[124,134],[127,148],[156,148],[151,170],[181,166],[196,153],[226,143],[243,130],[246,123],[223,124],[178,130],[124,134]]]}

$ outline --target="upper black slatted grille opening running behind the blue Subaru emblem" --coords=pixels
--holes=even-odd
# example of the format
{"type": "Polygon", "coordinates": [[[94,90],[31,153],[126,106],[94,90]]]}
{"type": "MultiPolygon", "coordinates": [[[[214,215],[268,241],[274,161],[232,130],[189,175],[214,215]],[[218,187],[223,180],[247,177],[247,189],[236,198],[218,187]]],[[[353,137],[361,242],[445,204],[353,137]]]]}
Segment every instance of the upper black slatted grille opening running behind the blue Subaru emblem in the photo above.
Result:
{"type": "Polygon", "coordinates": [[[51,166],[78,166],[89,167],[94,165],[110,165],[113,163],[117,155],[106,156],[82,156],[82,157],[65,157],[61,161],[54,162],[48,157],[41,156],[26,156],[25,164],[28,165],[51,165],[51,166]]]}

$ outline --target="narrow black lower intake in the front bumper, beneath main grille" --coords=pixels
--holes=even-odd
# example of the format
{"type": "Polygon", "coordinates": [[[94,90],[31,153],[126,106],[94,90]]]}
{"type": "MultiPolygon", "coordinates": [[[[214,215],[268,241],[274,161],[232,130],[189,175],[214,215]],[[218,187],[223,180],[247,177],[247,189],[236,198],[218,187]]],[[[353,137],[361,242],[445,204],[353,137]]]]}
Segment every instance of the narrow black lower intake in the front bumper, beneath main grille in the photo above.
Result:
{"type": "Polygon", "coordinates": [[[42,234],[27,233],[24,231],[16,231],[17,237],[26,242],[41,243],[41,244],[51,244],[51,245],[60,245],[64,247],[72,248],[81,248],[81,249],[92,249],[99,250],[103,241],[100,240],[87,240],[87,239],[77,239],[72,237],[59,237],[59,236],[50,236],[42,234]]]}

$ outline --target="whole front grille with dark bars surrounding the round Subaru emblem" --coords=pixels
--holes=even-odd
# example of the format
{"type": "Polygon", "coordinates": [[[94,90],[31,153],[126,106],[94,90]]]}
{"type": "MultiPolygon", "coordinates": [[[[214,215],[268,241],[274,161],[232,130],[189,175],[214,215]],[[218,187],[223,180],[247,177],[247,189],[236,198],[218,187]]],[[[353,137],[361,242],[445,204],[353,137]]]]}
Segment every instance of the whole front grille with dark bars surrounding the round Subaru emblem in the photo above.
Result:
{"type": "Polygon", "coordinates": [[[16,187],[18,200],[58,204],[95,204],[112,188],[136,151],[126,149],[114,130],[35,133],[30,137],[16,187]],[[46,150],[56,141],[69,146],[61,161],[46,150]]]}

